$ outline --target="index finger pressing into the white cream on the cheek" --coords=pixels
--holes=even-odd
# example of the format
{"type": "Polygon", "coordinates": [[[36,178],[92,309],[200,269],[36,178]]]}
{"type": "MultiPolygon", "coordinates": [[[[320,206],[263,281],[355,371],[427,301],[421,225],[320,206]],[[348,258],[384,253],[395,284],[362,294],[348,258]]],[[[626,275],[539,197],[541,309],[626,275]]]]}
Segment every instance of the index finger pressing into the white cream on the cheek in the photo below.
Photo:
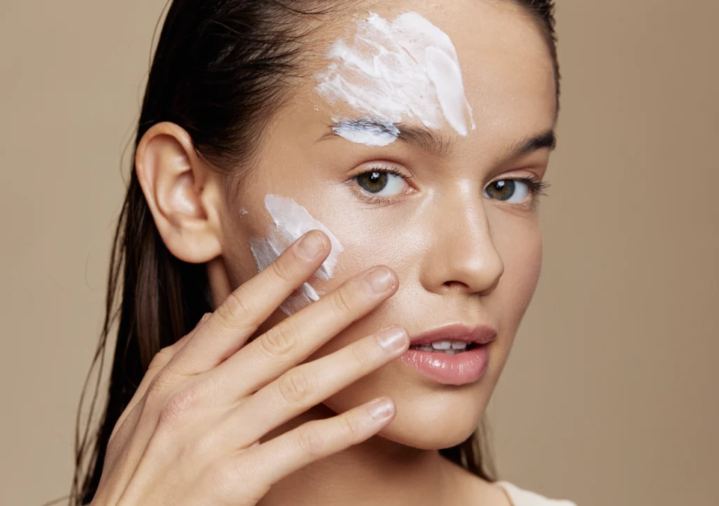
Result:
{"type": "Polygon", "coordinates": [[[234,290],[192,339],[170,360],[176,374],[200,374],[234,354],[263,321],[306,282],[329,254],[329,238],[309,231],[267,269],[234,290]]]}

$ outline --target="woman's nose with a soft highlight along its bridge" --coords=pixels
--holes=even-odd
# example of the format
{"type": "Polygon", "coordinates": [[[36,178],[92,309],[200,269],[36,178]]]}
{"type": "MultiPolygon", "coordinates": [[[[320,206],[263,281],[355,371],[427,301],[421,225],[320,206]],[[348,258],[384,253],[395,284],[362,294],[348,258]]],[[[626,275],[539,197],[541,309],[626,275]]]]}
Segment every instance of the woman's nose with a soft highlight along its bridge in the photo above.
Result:
{"type": "Polygon", "coordinates": [[[447,198],[431,218],[421,283],[433,293],[487,295],[497,286],[504,263],[492,240],[482,197],[447,198]]]}

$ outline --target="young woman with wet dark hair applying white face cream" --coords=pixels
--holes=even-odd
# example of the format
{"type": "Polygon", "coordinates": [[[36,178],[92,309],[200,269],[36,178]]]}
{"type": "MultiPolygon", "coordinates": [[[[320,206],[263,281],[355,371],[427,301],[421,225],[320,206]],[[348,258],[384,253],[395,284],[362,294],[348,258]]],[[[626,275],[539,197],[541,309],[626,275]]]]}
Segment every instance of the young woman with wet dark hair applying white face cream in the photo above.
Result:
{"type": "Polygon", "coordinates": [[[551,1],[175,0],[75,504],[555,504],[478,427],[539,278],[558,83],[551,1]]]}

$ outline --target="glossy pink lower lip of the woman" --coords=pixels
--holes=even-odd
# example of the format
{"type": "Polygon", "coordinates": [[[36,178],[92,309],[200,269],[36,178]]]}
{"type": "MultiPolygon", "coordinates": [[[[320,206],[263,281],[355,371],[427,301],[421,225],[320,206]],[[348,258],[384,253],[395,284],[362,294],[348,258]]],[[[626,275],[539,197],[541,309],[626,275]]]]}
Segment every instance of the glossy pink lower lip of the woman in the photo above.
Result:
{"type": "Polygon", "coordinates": [[[401,359],[431,380],[445,385],[464,385],[479,380],[485,374],[489,353],[487,344],[454,355],[408,349],[401,359]]]}

